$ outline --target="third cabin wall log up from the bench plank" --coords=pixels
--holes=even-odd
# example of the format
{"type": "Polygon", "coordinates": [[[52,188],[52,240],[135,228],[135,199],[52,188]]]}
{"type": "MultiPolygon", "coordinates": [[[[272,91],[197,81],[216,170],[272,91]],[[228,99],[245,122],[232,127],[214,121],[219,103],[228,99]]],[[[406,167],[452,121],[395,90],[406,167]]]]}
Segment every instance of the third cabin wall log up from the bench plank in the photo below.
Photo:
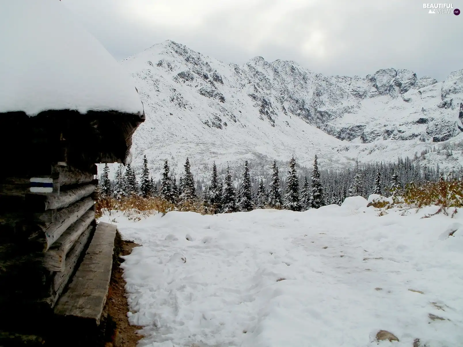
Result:
{"type": "MultiPolygon", "coordinates": [[[[63,232],[71,226],[71,224],[75,223],[80,217],[82,217],[93,205],[94,200],[92,198],[84,198],[68,207],[63,208],[62,210],[59,210],[56,216],[56,222],[48,225],[39,225],[44,236],[40,238],[43,242],[43,252],[46,252],[53,242],[55,242],[58,237],[60,237],[63,232]]],[[[34,236],[35,235],[32,237],[34,236]]]]}

